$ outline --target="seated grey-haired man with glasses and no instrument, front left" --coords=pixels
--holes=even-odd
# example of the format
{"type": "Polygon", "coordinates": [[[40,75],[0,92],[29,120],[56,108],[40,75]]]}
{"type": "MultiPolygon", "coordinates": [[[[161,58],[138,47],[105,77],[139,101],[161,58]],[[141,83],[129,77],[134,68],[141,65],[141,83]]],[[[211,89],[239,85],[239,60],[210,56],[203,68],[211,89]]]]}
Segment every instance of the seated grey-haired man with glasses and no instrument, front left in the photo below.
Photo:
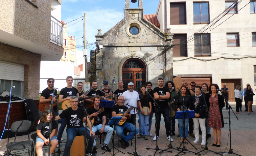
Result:
{"type": "Polygon", "coordinates": [[[66,118],[68,124],[67,124],[67,142],[65,145],[63,156],[68,156],[70,147],[73,143],[73,140],[77,133],[85,135],[86,128],[83,126],[83,122],[87,120],[89,130],[86,132],[86,137],[89,138],[87,148],[86,148],[86,154],[96,156],[95,154],[92,154],[92,145],[94,142],[95,134],[92,131],[92,125],[90,122],[90,119],[84,117],[84,109],[82,107],[78,107],[78,98],[76,96],[70,97],[70,103],[71,107],[64,110],[59,116],[55,117],[55,120],[59,120],[62,118],[66,118]]]}

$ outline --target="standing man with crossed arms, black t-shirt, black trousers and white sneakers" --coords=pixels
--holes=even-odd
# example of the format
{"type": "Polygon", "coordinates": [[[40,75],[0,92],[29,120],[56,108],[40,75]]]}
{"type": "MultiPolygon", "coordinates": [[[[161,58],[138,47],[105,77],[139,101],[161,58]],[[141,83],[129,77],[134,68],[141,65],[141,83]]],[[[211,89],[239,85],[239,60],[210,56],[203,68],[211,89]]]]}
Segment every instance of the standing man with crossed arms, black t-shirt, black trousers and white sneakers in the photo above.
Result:
{"type": "Polygon", "coordinates": [[[156,134],[153,140],[159,139],[160,121],[161,114],[164,117],[166,139],[173,141],[170,136],[170,118],[169,118],[169,105],[168,99],[170,98],[170,92],[167,87],[164,87],[164,80],[162,78],[158,79],[158,87],[154,88],[154,98],[158,105],[155,106],[155,116],[156,116],[156,134]],[[159,107],[160,108],[159,108],[159,107]]]}

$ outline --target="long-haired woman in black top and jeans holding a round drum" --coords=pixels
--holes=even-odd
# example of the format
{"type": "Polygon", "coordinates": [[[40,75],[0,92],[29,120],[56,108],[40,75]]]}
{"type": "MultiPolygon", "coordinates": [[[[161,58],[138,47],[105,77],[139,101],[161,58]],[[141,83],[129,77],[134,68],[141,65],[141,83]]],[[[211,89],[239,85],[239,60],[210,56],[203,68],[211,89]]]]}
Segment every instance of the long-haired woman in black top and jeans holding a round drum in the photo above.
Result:
{"type": "Polygon", "coordinates": [[[139,100],[139,134],[137,135],[137,138],[140,138],[141,136],[144,136],[144,139],[148,139],[148,126],[149,126],[149,115],[152,112],[152,102],[151,98],[148,97],[146,93],[146,86],[140,87],[140,100],[139,100]],[[149,111],[144,112],[143,107],[148,107],[149,111]]]}

